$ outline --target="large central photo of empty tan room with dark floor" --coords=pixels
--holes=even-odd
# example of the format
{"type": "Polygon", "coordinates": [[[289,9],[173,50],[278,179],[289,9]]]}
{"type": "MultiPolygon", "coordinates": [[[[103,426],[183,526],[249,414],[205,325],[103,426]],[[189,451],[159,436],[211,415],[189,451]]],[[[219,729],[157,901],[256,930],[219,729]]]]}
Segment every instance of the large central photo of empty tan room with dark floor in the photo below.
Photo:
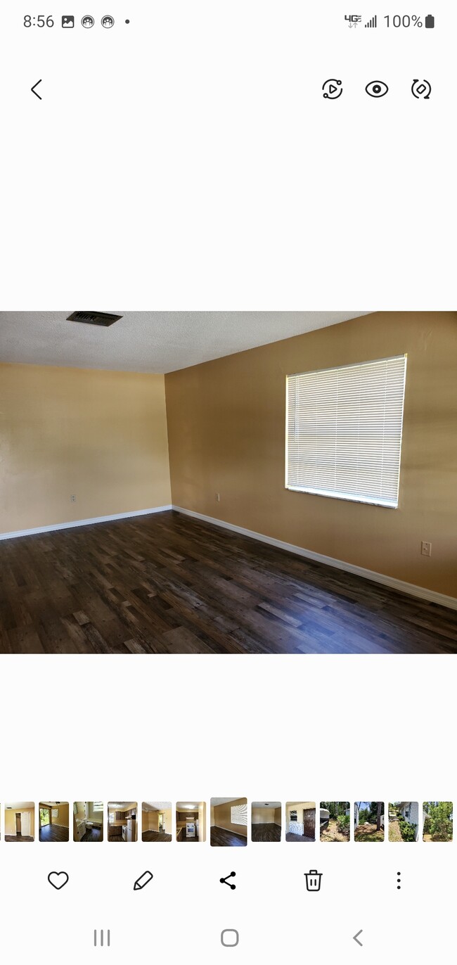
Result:
{"type": "Polygon", "coordinates": [[[457,313],[3,312],[0,420],[1,652],[456,651],[457,313]]]}

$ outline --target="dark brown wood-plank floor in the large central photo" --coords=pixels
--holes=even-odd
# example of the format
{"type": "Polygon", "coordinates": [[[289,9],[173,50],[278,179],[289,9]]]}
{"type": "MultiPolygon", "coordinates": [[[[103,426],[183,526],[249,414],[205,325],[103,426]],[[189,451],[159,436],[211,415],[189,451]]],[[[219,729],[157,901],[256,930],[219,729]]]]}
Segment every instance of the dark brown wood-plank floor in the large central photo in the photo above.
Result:
{"type": "Polygon", "coordinates": [[[175,511],[0,541],[4,653],[455,653],[457,612],[175,511]]]}

